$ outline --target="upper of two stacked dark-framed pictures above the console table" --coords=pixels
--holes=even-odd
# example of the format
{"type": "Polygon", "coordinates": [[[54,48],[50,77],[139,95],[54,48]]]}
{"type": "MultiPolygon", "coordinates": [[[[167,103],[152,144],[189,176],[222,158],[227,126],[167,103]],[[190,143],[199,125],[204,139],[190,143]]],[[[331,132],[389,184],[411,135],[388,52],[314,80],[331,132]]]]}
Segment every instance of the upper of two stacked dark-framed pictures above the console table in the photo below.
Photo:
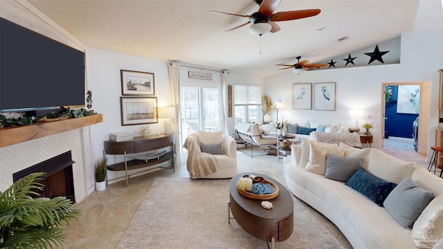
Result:
{"type": "Polygon", "coordinates": [[[155,95],[154,73],[120,70],[122,95],[155,95]]]}

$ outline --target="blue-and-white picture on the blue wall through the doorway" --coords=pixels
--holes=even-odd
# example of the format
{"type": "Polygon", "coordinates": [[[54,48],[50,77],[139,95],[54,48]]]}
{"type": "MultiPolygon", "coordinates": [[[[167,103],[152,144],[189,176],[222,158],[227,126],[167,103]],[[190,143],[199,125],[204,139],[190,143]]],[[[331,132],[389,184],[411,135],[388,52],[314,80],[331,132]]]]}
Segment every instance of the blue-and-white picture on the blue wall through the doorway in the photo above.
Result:
{"type": "Polygon", "coordinates": [[[400,85],[397,94],[397,113],[419,114],[420,85],[400,85]]]}

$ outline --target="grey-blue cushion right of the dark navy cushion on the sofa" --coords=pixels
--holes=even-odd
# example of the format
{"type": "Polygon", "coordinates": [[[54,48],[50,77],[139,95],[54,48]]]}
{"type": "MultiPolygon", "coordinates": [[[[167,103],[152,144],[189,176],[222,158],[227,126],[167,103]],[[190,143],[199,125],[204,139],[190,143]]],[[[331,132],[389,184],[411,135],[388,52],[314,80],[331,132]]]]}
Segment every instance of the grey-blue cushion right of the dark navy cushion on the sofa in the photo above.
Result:
{"type": "Polygon", "coordinates": [[[386,197],[383,206],[403,228],[409,228],[432,199],[432,192],[422,189],[406,177],[386,197]]]}

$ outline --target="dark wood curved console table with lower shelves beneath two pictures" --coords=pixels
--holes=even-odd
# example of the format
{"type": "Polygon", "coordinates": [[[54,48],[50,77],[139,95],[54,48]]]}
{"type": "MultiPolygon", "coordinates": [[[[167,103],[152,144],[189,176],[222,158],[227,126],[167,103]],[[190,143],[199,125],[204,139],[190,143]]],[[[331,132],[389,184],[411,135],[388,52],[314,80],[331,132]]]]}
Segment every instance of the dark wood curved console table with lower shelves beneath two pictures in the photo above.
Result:
{"type": "MultiPolygon", "coordinates": [[[[115,163],[113,165],[108,165],[108,170],[111,171],[125,171],[126,176],[126,186],[129,181],[128,170],[131,169],[139,169],[143,167],[150,167],[149,169],[155,167],[164,167],[164,165],[160,165],[161,163],[165,163],[170,161],[170,165],[168,168],[174,169],[175,172],[175,135],[174,134],[154,134],[148,137],[135,137],[132,140],[115,142],[111,140],[105,141],[105,155],[125,155],[125,161],[122,163],[115,163]],[[170,151],[166,152],[159,158],[151,159],[151,160],[128,160],[128,154],[136,154],[141,152],[154,151],[156,149],[168,149],[170,151]]],[[[152,154],[152,153],[151,153],[152,154]]]]}

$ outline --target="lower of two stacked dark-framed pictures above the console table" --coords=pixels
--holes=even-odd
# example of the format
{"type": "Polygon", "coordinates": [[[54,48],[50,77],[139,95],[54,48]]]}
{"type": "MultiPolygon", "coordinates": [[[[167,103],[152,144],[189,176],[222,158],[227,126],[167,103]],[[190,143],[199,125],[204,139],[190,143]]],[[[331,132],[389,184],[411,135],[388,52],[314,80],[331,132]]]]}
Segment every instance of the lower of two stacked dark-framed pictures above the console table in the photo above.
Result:
{"type": "Polygon", "coordinates": [[[157,98],[120,97],[122,125],[159,122],[157,98]]]}

